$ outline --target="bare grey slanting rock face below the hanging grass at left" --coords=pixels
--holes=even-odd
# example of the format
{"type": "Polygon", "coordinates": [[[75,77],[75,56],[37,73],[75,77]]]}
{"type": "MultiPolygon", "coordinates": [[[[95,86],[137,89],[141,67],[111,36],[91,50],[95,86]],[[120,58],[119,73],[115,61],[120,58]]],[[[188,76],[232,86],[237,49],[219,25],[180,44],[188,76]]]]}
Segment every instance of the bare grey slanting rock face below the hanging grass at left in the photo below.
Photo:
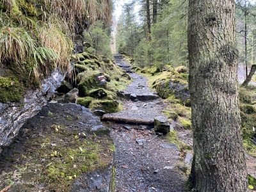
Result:
{"type": "Polygon", "coordinates": [[[51,76],[42,82],[42,88],[28,91],[23,102],[3,104],[0,102],[0,153],[1,148],[10,145],[20,127],[47,104],[63,81],[60,70],[54,70],[51,76]]]}

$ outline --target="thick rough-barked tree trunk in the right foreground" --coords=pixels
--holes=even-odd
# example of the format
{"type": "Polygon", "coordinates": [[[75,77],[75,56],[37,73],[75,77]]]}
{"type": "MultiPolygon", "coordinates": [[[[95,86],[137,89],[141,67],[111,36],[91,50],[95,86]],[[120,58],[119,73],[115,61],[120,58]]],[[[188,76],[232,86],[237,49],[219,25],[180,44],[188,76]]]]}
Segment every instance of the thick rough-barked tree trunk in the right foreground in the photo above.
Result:
{"type": "Polygon", "coordinates": [[[189,0],[189,90],[195,191],[247,191],[234,0],[189,0]]]}

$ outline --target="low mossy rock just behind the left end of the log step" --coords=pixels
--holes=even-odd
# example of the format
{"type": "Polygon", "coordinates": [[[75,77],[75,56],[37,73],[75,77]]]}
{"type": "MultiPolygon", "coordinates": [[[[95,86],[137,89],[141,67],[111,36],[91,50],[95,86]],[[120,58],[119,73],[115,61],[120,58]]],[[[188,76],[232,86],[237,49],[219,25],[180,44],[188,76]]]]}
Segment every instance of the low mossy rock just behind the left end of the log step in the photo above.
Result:
{"type": "Polygon", "coordinates": [[[115,113],[120,110],[119,102],[117,100],[93,100],[89,108],[100,109],[106,113],[115,113]]]}

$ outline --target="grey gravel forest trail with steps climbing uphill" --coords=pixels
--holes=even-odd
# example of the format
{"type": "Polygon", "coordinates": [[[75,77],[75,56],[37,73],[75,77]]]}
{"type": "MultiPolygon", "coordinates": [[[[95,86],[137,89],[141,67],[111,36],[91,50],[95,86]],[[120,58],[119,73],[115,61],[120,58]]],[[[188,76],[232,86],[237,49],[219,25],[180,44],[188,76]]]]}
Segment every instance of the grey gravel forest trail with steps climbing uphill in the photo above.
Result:
{"type": "MultiPolygon", "coordinates": [[[[154,118],[161,116],[164,102],[148,88],[147,78],[131,72],[131,67],[120,55],[116,64],[130,73],[133,81],[123,94],[131,99],[122,100],[119,113],[107,115],[116,120],[146,120],[147,125],[106,123],[112,127],[116,152],[116,191],[183,191],[186,177],[177,168],[180,152],[168,138],[152,131],[154,118]],[[150,95],[150,96],[148,96],[150,95]]],[[[106,118],[106,116],[105,116],[106,118]]]]}

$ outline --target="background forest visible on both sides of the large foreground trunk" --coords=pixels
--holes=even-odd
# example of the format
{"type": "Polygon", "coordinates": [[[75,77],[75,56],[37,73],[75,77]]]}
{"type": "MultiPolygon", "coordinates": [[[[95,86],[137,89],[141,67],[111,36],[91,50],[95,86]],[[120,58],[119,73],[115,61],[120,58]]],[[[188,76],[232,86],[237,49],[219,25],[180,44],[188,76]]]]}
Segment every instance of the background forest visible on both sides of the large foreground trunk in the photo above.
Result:
{"type": "MultiPolygon", "coordinates": [[[[248,0],[236,3],[239,61],[245,68],[255,63],[256,6],[248,0]]],[[[188,0],[133,1],[125,4],[118,21],[117,48],[131,55],[139,67],[188,65],[187,28],[188,0]],[[141,7],[137,20],[135,4],[141,7]]]]}

